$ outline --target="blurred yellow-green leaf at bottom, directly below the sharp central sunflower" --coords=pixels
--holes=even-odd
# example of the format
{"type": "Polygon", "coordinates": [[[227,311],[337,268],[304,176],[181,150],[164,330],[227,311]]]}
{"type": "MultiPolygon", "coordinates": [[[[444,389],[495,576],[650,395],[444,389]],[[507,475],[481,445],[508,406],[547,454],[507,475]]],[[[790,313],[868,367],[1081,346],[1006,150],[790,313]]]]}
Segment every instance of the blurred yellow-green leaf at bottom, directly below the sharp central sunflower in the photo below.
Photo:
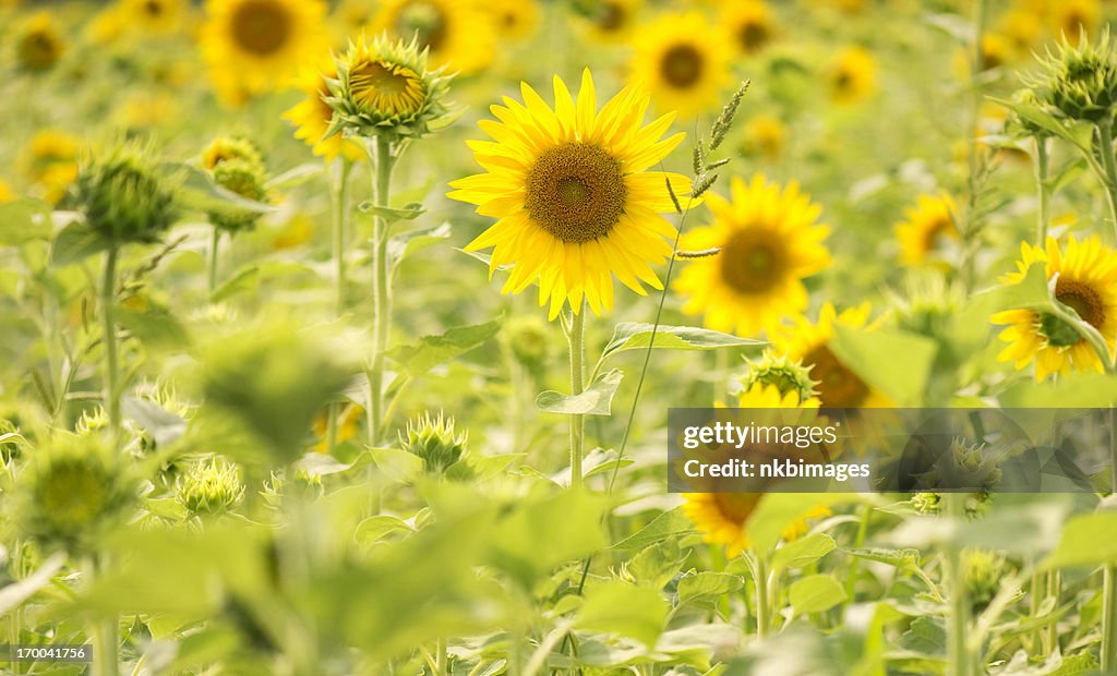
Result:
{"type": "Polygon", "coordinates": [[[663,630],[667,611],[667,601],[655,589],[607,582],[586,593],[574,626],[634,638],[651,648],[663,630]]]}

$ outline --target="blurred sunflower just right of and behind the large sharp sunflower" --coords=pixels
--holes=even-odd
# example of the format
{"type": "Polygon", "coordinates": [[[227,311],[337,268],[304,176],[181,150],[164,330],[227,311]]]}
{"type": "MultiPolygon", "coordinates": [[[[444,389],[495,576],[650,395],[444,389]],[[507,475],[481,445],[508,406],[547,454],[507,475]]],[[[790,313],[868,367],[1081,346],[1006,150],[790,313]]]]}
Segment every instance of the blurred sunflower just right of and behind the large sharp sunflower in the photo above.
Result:
{"type": "Polygon", "coordinates": [[[806,308],[803,279],[830,264],[822,246],[830,228],[817,225],[819,207],[794,182],[781,188],[762,174],[751,183],[735,177],[732,197],[710,194],[714,223],[695,228],[679,244],[722,251],[691,260],[675,288],[687,296],[682,311],[704,313],[708,329],[755,335],[806,308]]]}

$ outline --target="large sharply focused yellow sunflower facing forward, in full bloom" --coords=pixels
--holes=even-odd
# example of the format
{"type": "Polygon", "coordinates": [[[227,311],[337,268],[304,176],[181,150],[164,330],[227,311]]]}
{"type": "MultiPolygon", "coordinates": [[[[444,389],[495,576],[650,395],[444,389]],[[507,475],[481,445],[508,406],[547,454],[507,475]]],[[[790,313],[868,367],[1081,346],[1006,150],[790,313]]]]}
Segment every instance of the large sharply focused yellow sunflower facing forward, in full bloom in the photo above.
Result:
{"type": "Polygon", "coordinates": [[[499,122],[479,123],[496,142],[470,142],[488,172],[450,183],[457,190],[449,197],[499,219],[467,249],[494,247],[490,275],[514,266],[505,293],[537,279],[552,320],[567,301],[577,313],[583,297],[594,313],[610,310],[612,275],[641,295],[641,283],[662,288],[650,264],[666,260],[671,247],[663,238],[676,235],[659,216],[674,210],[666,181],[680,199],[690,182],[645,170],[682,141],[681,133],[660,140],[675,114],[642,126],[649,102],[639,87],[598,111],[589,69],[576,103],[557,76],[554,110],[526,83],[521,91],[526,105],[505,97],[491,108],[499,122]]]}

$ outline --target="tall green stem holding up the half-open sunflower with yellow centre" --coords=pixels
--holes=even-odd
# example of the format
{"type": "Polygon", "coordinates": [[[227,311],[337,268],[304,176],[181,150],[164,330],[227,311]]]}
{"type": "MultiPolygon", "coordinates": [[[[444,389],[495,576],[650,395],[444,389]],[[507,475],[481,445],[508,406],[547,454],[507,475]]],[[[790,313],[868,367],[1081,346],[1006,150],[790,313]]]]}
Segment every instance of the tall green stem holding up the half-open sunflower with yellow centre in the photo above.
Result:
{"type": "MultiPolygon", "coordinates": [[[[373,203],[391,206],[392,158],[391,144],[376,136],[372,150],[373,203]]],[[[380,441],[384,427],[384,353],[388,351],[391,329],[392,295],[388,274],[388,219],[378,215],[373,221],[372,249],[372,366],[369,369],[369,445],[380,441]]]]}

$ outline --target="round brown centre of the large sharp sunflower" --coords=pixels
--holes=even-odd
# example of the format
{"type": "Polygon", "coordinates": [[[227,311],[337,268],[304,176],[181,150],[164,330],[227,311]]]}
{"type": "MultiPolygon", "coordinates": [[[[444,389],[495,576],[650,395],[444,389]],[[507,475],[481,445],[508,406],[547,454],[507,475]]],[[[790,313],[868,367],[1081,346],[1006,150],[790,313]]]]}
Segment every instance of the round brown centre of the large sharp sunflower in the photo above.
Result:
{"type": "Polygon", "coordinates": [[[532,220],[564,242],[604,237],[624,212],[624,174],[611,154],[589,143],[544,151],[527,172],[532,220]]]}

